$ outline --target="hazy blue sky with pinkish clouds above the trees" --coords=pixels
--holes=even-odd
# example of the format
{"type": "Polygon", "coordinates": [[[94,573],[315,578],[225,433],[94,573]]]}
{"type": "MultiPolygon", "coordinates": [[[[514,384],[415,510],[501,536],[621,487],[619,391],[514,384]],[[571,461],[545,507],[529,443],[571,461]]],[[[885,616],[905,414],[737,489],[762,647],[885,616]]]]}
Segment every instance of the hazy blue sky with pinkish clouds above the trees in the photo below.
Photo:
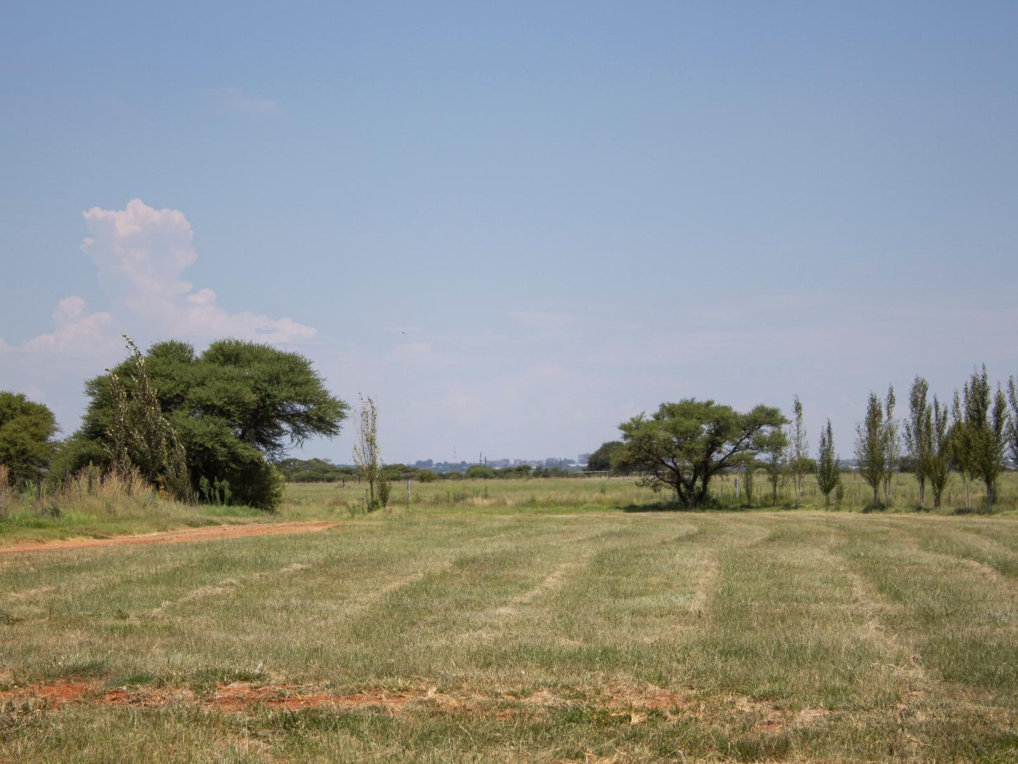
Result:
{"type": "Polygon", "coordinates": [[[390,461],[796,393],[850,456],[1018,373],[1014,3],[22,3],[0,71],[0,389],[65,432],[121,332],[297,350],[390,461]]]}

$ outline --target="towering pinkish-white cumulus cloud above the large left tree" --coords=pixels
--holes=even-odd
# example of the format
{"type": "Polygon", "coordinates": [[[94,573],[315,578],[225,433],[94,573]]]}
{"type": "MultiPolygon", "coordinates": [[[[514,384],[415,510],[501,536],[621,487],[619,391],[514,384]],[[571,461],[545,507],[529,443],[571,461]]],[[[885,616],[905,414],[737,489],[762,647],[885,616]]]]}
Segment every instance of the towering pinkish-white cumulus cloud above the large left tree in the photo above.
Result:
{"type": "Polygon", "coordinates": [[[122,332],[140,344],[183,339],[201,344],[222,337],[299,343],[316,330],[289,318],[232,313],[216,292],[195,289],[184,271],[197,260],[193,232],[179,210],[157,210],[134,199],[122,210],[82,213],[81,251],[96,266],[106,310],[90,310],[71,294],[57,303],[52,331],[17,344],[0,338],[0,389],[32,392],[73,430],[82,380],[124,357],[122,332]]]}

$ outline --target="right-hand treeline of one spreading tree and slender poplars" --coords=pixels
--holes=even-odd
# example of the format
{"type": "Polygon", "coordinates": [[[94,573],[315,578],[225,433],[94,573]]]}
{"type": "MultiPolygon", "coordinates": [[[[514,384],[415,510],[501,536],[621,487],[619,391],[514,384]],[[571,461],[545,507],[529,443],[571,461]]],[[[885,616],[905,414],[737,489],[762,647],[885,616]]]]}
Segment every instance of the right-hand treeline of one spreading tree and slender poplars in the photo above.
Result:
{"type": "MultiPolygon", "coordinates": [[[[739,413],[694,398],[662,403],[654,414],[619,425],[622,437],[603,443],[587,469],[634,474],[655,490],[674,491],[684,507],[709,504],[712,478],[732,473],[740,477],[747,505],[752,505],[762,479],[775,505],[779,491],[791,485],[798,506],[807,475],[815,476],[826,505],[832,494],[840,500],[843,470],[831,420],[821,430],[813,455],[797,395],[792,413],[788,419],[779,408],[762,404],[739,413]]],[[[897,413],[893,386],[883,398],[870,392],[863,420],[855,428],[854,455],[858,475],[872,491],[867,508],[891,506],[893,476],[909,472],[918,483],[920,509],[927,505],[927,490],[932,505],[941,506],[957,476],[965,507],[971,509],[978,481],[985,487],[985,510],[993,511],[999,476],[1009,457],[1018,461],[1018,383],[1011,377],[1006,387],[995,387],[983,365],[954,390],[949,404],[936,394],[930,397],[928,382],[917,376],[903,418],[897,413]]]]}

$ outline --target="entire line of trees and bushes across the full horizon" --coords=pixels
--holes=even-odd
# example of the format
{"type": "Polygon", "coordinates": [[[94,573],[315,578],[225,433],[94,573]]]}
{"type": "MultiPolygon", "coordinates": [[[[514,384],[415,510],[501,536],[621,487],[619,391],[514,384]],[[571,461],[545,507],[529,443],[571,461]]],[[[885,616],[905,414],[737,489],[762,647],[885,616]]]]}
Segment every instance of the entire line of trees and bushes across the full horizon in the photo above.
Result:
{"type": "MultiPolygon", "coordinates": [[[[147,353],[129,338],[127,343],[126,360],[86,382],[89,403],[81,427],[63,440],[55,437],[56,422],[47,406],[23,394],[0,391],[3,496],[33,487],[38,495],[44,481],[66,488],[82,475],[91,486],[98,471],[121,476],[124,485],[137,476],[158,493],[182,501],[243,503],[271,510],[282,500],[287,480],[359,478],[369,482],[367,505],[375,507],[385,505],[389,483],[396,481],[576,475],[558,467],[525,465],[500,470],[472,465],[465,474],[384,465],[371,398],[369,407],[361,406],[361,418],[370,411],[370,426],[361,422],[357,428],[373,444],[363,463],[354,468],[287,458],[291,447],[308,438],[338,434],[347,418],[349,406],[326,390],[309,361],[232,339],[213,342],[201,353],[178,341],[156,343],[147,353]]],[[[985,509],[993,510],[1008,457],[1018,460],[1015,377],[995,386],[983,366],[950,400],[930,395],[926,380],[916,377],[907,415],[898,411],[893,387],[883,397],[871,392],[855,428],[857,472],[871,489],[870,505],[892,505],[892,476],[906,470],[918,483],[920,508],[927,498],[940,506],[950,481],[957,479],[967,508],[975,484],[981,483],[985,509]]],[[[694,398],[662,403],[654,414],[621,423],[621,438],[602,444],[590,455],[587,470],[633,475],[656,490],[670,489],[686,507],[709,503],[712,478],[733,472],[741,476],[747,504],[762,479],[774,504],[779,489],[791,485],[798,505],[803,480],[812,474],[825,503],[830,503],[832,494],[836,499],[839,495],[842,475],[831,421],[822,428],[813,454],[798,396],[792,414],[788,419],[779,408],[762,404],[739,413],[694,398]]],[[[355,448],[355,460],[357,453],[355,448]]]]}

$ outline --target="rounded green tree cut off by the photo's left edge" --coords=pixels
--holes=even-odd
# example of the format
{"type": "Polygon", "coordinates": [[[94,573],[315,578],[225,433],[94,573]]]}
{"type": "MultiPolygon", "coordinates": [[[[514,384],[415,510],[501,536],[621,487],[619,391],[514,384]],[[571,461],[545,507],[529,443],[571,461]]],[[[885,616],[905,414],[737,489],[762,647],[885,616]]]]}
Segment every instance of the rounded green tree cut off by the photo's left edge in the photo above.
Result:
{"type": "Polygon", "coordinates": [[[9,485],[43,474],[53,455],[56,432],[56,420],[47,405],[0,390],[0,465],[7,468],[9,485]]]}

